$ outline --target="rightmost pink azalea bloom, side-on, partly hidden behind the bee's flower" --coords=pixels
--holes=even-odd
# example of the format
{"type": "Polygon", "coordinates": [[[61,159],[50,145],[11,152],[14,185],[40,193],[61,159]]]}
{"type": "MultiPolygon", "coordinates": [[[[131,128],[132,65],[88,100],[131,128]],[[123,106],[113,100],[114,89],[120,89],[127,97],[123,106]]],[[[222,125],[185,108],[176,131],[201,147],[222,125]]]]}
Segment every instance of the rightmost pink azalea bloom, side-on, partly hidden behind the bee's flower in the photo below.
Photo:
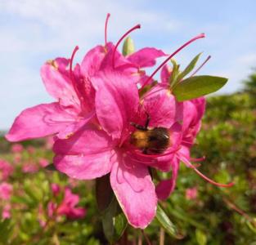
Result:
{"type": "MultiPolygon", "coordinates": [[[[208,59],[209,60],[209,57],[208,59]]],[[[204,61],[203,65],[207,62],[204,61]]],[[[200,66],[200,68],[202,65],[200,66]]],[[[198,71],[197,69],[195,73],[198,71]]],[[[161,83],[159,85],[160,90],[168,90],[168,79],[170,78],[172,73],[172,69],[168,66],[164,66],[161,71],[161,83]]],[[[192,75],[194,75],[193,73],[192,75]]],[[[191,167],[198,175],[200,175],[204,180],[209,181],[213,185],[221,186],[221,187],[231,187],[234,185],[233,183],[229,184],[220,184],[207,176],[204,176],[196,166],[192,165],[191,162],[200,162],[203,161],[204,158],[191,158],[190,149],[191,146],[195,142],[195,137],[197,133],[200,131],[201,120],[204,115],[205,110],[205,98],[200,97],[194,100],[186,100],[182,102],[182,139],[177,147],[176,151],[173,151],[173,155],[169,155],[165,157],[165,160],[171,163],[172,168],[172,176],[168,180],[160,180],[159,185],[156,187],[156,193],[158,198],[164,200],[168,198],[168,196],[173,192],[176,185],[177,180],[177,172],[179,169],[179,164],[182,161],[186,164],[187,167],[191,167]]]]}

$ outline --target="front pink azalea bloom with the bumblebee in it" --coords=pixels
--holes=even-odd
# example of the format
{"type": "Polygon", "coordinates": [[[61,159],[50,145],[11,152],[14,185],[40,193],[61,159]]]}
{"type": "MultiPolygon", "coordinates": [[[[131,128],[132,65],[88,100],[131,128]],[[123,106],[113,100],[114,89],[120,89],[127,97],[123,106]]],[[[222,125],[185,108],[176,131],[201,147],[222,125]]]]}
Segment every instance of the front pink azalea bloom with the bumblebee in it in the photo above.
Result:
{"type": "Polygon", "coordinates": [[[144,125],[147,113],[150,127],[172,128],[170,151],[177,147],[175,141],[181,138],[182,127],[175,125],[179,113],[173,96],[162,92],[148,97],[143,109],[134,80],[126,73],[113,70],[102,71],[92,79],[99,125],[88,124],[70,139],[56,140],[54,163],[58,170],[82,180],[110,172],[112,189],[129,223],[145,228],[154,218],[157,204],[148,167],[169,171],[170,163],[157,162],[155,155],[141,154],[141,150],[130,144],[131,133],[135,130],[130,122],[144,125]]]}

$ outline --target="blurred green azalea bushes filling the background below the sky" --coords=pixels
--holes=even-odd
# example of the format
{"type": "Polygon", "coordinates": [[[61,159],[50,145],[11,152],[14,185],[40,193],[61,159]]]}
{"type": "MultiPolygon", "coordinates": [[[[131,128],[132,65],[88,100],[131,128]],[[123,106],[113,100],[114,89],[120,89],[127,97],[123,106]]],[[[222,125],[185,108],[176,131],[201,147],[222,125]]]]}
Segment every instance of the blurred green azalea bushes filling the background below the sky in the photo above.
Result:
{"type": "MultiPolygon", "coordinates": [[[[210,97],[193,148],[193,157],[206,157],[200,171],[218,182],[233,180],[235,186],[215,187],[181,164],[177,188],[161,204],[181,239],[169,237],[154,220],[145,234],[128,226],[124,236],[131,244],[146,243],[146,237],[152,244],[256,244],[255,88],[253,73],[244,91],[210,97]]],[[[0,178],[13,188],[10,201],[0,198],[0,214],[11,205],[11,217],[0,221],[0,244],[106,244],[93,181],[71,180],[45,168],[52,159],[50,141],[26,141],[16,150],[1,138],[0,158],[14,170],[7,180],[0,178]],[[54,195],[52,183],[61,186],[61,194],[54,195]],[[81,219],[49,216],[49,203],[60,205],[67,186],[79,194],[77,207],[86,208],[81,219]]]]}

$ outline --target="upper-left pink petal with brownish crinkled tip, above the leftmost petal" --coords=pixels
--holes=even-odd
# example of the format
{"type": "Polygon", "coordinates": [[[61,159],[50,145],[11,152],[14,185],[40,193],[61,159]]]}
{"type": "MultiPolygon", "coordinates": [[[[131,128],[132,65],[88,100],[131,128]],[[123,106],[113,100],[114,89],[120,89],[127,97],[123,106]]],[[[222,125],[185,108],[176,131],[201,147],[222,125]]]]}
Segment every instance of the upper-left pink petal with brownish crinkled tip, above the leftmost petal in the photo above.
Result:
{"type": "Polygon", "coordinates": [[[50,63],[46,63],[41,68],[41,77],[47,89],[47,92],[56,100],[59,100],[61,105],[72,105],[79,109],[79,99],[74,91],[70,74],[66,69],[69,65],[69,60],[58,58],[53,60],[56,67],[50,63]]]}

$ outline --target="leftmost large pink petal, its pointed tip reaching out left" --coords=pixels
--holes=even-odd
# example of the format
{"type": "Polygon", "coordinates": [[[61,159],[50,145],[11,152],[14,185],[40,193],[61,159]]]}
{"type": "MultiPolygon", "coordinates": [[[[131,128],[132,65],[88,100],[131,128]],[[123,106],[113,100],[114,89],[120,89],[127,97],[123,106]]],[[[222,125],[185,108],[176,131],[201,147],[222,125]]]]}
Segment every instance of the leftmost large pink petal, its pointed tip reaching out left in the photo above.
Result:
{"type": "Polygon", "coordinates": [[[74,115],[68,114],[59,103],[36,105],[21,112],[6,138],[19,141],[49,136],[64,130],[70,122],[74,122],[74,115]]]}

